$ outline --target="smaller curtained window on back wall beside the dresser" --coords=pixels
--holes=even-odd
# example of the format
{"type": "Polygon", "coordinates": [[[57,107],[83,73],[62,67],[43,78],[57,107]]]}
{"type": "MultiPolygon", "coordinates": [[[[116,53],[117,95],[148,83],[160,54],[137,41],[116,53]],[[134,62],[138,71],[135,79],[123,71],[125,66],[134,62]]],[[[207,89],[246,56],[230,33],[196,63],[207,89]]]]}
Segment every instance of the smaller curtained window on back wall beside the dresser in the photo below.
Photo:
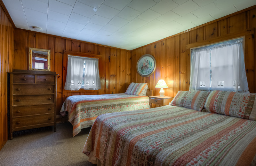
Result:
{"type": "Polygon", "coordinates": [[[101,89],[99,60],[68,55],[68,71],[64,89],[79,90],[101,89]]]}

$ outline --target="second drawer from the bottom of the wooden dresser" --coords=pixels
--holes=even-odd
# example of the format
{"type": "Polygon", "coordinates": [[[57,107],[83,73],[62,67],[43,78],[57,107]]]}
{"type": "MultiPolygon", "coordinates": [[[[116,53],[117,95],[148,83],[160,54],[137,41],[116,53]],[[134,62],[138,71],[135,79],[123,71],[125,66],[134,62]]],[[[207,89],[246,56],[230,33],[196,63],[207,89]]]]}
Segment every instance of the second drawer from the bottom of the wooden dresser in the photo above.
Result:
{"type": "Polygon", "coordinates": [[[54,104],[20,106],[12,108],[12,117],[46,114],[54,112],[54,104]]]}

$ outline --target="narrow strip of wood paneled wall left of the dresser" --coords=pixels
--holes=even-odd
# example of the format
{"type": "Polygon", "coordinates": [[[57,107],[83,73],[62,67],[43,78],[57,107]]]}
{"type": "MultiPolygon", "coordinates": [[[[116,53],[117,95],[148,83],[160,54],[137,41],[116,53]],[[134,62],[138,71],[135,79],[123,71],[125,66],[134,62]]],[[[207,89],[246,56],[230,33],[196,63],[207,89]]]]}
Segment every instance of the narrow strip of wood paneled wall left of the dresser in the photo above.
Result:
{"type": "Polygon", "coordinates": [[[7,132],[7,72],[13,66],[14,28],[0,6],[0,150],[8,140],[7,132]]]}

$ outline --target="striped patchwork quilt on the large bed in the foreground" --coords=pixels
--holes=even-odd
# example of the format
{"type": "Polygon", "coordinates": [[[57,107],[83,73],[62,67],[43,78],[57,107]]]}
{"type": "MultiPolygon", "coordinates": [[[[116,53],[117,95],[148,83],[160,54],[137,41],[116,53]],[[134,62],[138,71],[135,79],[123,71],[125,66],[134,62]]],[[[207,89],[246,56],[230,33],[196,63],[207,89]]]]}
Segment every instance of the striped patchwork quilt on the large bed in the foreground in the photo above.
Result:
{"type": "Polygon", "coordinates": [[[256,121],[176,106],[100,115],[83,153],[102,166],[255,165],[256,121]]]}

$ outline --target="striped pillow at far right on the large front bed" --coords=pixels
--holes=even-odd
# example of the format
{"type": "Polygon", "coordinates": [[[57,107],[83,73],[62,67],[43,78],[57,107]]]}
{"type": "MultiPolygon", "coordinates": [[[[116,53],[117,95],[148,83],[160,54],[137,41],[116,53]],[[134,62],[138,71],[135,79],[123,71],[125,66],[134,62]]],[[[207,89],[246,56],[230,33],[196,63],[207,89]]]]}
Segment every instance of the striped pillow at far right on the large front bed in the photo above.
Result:
{"type": "Polygon", "coordinates": [[[215,90],[208,95],[204,107],[206,112],[256,120],[254,101],[255,94],[215,90]]]}

